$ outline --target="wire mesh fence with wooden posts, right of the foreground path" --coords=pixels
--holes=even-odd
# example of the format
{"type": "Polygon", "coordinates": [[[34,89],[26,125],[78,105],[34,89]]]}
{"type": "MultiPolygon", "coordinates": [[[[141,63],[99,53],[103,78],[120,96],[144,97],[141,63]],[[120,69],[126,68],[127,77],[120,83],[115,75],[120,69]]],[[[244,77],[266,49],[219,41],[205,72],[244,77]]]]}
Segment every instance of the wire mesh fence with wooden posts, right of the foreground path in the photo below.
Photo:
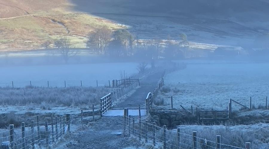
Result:
{"type": "MultiPolygon", "coordinates": [[[[128,113],[128,112],[127,112],[128,113]]],[[[246,142],[244,147],[237,147],[221,143],[221,136],[216,136],[216,141],[199,137],[199,132],[192,134],[180,132],[181,129],[168,130],[166,125],[159,127],[155,122],[135,119],[124,116],[123,133],[128,136],[137,137],[141,142],[152,144],[156,148],[164,149],[250,149],[250,143],[246,142]]]]}

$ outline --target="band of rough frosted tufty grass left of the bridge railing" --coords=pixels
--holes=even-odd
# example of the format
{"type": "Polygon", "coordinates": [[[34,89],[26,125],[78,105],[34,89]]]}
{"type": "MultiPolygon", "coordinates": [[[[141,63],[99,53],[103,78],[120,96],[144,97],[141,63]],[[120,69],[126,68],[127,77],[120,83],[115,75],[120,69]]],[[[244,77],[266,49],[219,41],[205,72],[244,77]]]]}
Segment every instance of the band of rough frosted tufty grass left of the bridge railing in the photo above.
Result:
{"type": "Polygon", "coordinates": [[[100,97],[111,92],[105,87],[67,87],[67,88],[0,88],[2,105],[41,105],[42,109],[55,106],[92,105],[100,102],[100,97]]]}

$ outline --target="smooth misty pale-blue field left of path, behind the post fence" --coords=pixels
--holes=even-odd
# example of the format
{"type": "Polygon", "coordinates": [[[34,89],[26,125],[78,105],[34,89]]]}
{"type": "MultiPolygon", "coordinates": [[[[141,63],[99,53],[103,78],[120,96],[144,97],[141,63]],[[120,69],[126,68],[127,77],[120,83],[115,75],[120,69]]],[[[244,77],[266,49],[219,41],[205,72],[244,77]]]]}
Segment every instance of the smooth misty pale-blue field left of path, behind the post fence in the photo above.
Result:
{"type": "MultiPolygon", "coordinates": [[[[0,67],[0,87],[49,86],[99,86],[107,85],[108,80],[119,79],[120,74],[132,75],[137,73],[137,63],[97,63],[70,65],[42,65],[42,66],[12,66],[0,67]]],[[[112,85],[112,82],[111,82],[112,85]]]]}

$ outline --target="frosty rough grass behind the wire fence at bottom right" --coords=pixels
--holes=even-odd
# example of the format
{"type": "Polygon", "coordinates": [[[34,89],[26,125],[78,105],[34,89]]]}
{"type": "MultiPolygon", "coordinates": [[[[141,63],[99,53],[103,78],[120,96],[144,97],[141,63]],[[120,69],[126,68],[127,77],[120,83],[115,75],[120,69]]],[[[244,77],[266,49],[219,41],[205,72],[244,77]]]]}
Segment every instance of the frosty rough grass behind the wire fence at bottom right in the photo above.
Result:
{"type": "MultiPolygon", "coordinates": [[[[176,131],[176,130],[174,130],[176,131]]],[[[244,148],[245,142],[251,142],[251,148],[265,149],[268,144],[268,124],[255,125],[181,125],[181,133],[192,135],[197,131],[197,136],[215,142],[216,135],[221,135],[221,143],[244,148]]],[[[181,135],[184,137],[184,135],[181,135]]],[[[224,145],[222,145],[224,148],[224,145]]]]}

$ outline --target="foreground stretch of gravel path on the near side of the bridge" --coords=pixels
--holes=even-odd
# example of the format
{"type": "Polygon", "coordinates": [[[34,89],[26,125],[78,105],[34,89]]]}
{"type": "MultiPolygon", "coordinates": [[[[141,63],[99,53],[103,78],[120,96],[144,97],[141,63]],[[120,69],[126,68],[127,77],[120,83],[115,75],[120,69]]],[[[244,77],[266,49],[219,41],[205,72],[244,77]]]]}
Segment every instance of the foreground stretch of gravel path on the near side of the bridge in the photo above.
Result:
{"type": "Polygon", "coordinates": [[[72,135],[76,143],[68,144],[69,149],[118,149],[139,148],[140,144],[122,134],[123,117],[102,117],[89,128],[72,135]]]}

